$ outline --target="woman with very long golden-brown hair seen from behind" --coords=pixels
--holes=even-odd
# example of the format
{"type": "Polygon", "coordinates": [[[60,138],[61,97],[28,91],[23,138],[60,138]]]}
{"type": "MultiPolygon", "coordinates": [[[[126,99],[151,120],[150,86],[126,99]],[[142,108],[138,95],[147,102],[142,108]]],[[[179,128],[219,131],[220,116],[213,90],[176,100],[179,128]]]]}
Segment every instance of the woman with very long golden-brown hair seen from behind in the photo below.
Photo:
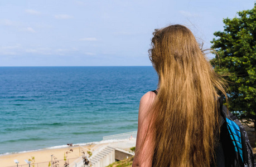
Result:
{"type": "Polygon", "coordinates": [[[211,166],[225,81],[185,26],[155,30],[149,55],[158,89],[141,98],[132,166],[211,166]]]}

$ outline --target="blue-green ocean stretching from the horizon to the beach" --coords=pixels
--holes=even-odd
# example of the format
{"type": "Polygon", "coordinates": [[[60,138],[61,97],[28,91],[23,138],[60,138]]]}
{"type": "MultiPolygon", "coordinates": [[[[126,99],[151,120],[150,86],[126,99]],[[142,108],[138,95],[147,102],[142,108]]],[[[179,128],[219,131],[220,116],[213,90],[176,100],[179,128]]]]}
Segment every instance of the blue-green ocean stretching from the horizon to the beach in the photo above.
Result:
{"type": "Polygon", "coordinates": [[[0,67],[0,154],[136,131],[153,67],[0,67]]]}

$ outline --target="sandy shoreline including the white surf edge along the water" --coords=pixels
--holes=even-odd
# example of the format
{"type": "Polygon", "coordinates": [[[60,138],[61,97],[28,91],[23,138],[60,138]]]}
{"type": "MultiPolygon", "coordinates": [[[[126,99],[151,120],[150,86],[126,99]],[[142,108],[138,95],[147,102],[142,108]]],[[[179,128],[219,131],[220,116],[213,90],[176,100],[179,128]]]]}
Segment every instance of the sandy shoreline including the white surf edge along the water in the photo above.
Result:
{"type": "MultiPolygon", "coordinates": [[[[133,138],[134,139],[134,138],[133,138]]],[[[112,139],[112,140],[102,140],[95,141],[90,143],[81,143],[74,144],[72,146],[69,145],[60,145],[60,146],[52,146],[50,148],[38,149],[38,150],[29,150],[29,151],[21,151],[18,153],[4,153],[0,155],[1,166],[4,167],[15,167],[14,160],[18,160],[18,165],[27,165],[25,160],[32,159],[34,157],[35,161],[32,163],[35,166],[49,166],[49,163],[52,161],[59,161],[58,164],[60,166],[64,166],[65,161],[69,164],[73,163],[76,159],[80,158],[82,155],[88,155],[87,151],[91,153],[99,148],[102,145],[109,145],[114,143],[124,143],[125,141],[129,141],[127,139],[112,139]],[[52,156],[51,156],[52,155],[52,156]],[[66,159],[66,160],[65,160],[66,159]]],[[[32,165],[31,163],[31,165],[32,165]]]]}

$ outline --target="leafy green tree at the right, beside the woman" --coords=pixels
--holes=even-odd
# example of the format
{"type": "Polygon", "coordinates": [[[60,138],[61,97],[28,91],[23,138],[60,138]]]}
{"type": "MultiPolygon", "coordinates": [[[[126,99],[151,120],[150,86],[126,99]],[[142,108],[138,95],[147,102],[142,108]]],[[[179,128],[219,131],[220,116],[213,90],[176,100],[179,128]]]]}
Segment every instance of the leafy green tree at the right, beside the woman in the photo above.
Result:
{"type": "MultiPolygon", "coordinates": [[[[215,32],[210,62],[220,74],[229,73],[229,110],[245,123],[256,121],[256,3],[253,9],[223,19],[224,31],[215,32]]],[[[256,130],[256,126],[254,126],[256,130]]]]}

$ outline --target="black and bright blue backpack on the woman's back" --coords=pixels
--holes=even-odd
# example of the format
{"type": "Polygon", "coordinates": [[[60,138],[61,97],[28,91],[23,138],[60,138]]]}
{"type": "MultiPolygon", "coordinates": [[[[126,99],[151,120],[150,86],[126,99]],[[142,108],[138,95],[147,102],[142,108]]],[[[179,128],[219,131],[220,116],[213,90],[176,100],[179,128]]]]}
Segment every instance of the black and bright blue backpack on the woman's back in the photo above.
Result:
{"type": "Polygon", "coordinates": [[[220,97],[220,141],[215,148],[216,166],[255,166],[253,150],[247,132],[236,116],[223,105],[224,95],[220,97]],[[224,165],[225,164],[225,165],[224,165]]]}

